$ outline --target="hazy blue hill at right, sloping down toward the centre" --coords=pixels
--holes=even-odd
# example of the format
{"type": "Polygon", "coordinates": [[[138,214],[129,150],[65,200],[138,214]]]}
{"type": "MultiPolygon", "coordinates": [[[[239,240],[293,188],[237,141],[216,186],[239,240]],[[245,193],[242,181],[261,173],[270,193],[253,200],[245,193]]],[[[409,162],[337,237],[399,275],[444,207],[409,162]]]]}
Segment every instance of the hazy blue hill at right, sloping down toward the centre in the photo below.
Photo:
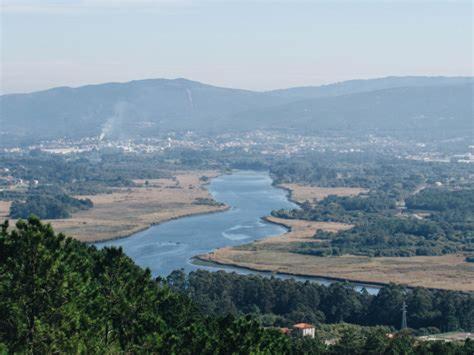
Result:
{"type": "MultiPolygon", "coordinates": [[[[371,132],[391,136],[453,137],[472,133],[474,85],[391,88],[297,101],[236,115],[236,125],[317,134],[371,132]],[[289,120],[291,118],[291,120],[289,120]]],[[[349,133],[350,134],[350,133],[349,133]]]]}

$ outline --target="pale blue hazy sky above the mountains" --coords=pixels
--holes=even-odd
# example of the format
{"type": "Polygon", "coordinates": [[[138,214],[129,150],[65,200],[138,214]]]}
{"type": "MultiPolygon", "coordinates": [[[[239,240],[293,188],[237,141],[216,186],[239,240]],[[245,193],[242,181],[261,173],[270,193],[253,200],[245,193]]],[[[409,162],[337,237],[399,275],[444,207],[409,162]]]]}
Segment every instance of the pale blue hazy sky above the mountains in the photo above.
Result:
{"type": "Polygon", "coordinates": [[[0,92],[183,77],[269,90],[473,75],[473,2],[0,0],[0,92]]]}

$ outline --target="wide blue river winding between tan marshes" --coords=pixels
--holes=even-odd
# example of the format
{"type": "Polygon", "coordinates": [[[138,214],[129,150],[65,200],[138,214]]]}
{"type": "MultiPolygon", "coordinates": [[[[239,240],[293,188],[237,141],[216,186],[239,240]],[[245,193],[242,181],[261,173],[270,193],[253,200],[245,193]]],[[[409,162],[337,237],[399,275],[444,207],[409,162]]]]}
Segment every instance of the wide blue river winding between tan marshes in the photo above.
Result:
{"type": "MultiPolygon", "coordinates": [[[[230,209],[172,220],[136,233],[130,237],[96,243],[97,247],[121,246],[138,265],[147,267],[154,276],[166,276],[176,269],[186,272],[196,269],[231,270],[239,273],[254,272],[236,267],[193,263],[193,257],[214,249],[249,243],[253,240],[276,236],[286,232],[282,226],[263,221],[275,209],[296,208],[288,200],[285,190],[272,185],[266,172],[235,171],[212,179],[208,186],[214,199],[224,202],[230,209]]],[[[288,275],[278,275],[288,278],[288,275]]],[[[331,281],[312,277],[294,277],[322,284],[331,281]]],[[[360,289],[362,285],[355,285],[360,289]]],[[[378,287],[367,287],[376,293],[378,287]]]]}

